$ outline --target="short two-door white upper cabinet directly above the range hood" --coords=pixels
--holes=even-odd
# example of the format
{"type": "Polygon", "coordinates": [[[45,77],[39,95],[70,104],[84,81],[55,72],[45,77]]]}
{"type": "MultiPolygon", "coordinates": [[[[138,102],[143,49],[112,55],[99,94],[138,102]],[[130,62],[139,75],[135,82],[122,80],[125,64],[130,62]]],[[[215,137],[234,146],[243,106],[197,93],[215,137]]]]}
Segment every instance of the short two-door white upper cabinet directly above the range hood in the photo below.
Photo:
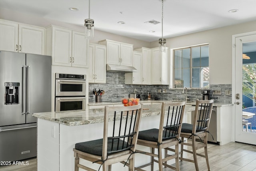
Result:
{"type": "Polygon", "coordinates": [[[132,44],[125,44],[112,40],[102,40],[99,44],[106,46],[107,64],[132,66],[132,44]]]}

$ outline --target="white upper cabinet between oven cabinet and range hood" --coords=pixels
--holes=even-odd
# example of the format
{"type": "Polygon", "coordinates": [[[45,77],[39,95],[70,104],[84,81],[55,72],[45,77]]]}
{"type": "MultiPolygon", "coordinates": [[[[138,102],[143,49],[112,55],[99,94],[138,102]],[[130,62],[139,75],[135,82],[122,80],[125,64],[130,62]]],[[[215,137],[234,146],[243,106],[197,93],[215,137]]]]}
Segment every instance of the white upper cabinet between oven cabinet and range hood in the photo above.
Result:
{"type": "Polygon", "coordinates": [[[106,46],[89,45],[89,83],[106,83],[106,46]]]}

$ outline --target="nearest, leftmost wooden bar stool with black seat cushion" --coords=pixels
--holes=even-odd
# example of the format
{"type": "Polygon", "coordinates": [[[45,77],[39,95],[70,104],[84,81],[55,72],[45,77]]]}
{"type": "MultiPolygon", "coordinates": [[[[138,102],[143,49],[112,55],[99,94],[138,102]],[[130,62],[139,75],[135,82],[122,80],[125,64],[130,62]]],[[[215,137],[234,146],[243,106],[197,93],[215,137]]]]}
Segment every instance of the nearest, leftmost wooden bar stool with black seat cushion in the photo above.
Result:
{"type": "Polygon", "coordinates": [[[141,110],[142,104],[126,107],[105,106],[103,139],[76,143],[73,149],[75,171],[79,168],[95,171],[81,165],[80,158],[102,165],[103,171],[111,171],[112,164],[129,160],[129,170],[134,171],[141,110]],[[113,125],[108,124],[109,120],[114,121],[113,125]]]}

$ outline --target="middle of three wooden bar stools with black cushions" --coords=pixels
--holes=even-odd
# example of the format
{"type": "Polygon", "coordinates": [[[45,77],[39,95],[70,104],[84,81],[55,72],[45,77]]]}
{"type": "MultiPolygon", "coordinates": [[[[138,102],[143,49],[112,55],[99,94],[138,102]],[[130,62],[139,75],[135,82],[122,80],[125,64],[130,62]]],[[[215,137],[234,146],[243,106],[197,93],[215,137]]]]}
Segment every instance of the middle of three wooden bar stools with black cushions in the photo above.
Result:
{"type": "Polygon", "coordinates": [[[144,155],[151,156],[151,162],[140,167],[137,171],[143,171],[142,168],[151,165],[151,171],[154,169],[154,162],[158,163],[159,171],[163,170],[163,165],[179,171],[179,137],[186,102],[163,102],[160,116],[159,129],[148,129],[140,131],[138,135],[138,145],[151,148],[151,153],[137,150],[144,155]],[[167,112],[166,112],[167,111],[167,112]],[[167,113],[167,114],[166,114],[167,113]],[[170,148],[175,146],[174,149],[170,148]],[[158,154],[154,150],[158,149],[158,154]],[[162,157],[164,149],[164,158],[162,157]],[[171,151],[172,155],[167,152],[171,151]],[[174,152],[174,153],[173,153],[174,152]],[[158,158],[158,160],[154,158],[158,158]],[[176,167],[168,165],[167,161],[176,159],[176,167]]]}

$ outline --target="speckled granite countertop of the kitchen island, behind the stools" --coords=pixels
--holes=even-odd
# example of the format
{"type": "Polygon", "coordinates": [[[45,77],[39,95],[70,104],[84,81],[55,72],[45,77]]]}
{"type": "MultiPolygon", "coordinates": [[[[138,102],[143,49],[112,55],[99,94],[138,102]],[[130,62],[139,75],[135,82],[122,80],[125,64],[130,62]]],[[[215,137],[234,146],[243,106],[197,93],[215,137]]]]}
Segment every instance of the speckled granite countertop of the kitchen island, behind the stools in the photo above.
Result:
{"type": "MultiPolygon", "coordinates": [[[[185,111],[192,111],[194,108],[194,106],[187,105],[185,111]]],[[[161,104],[143,105],[142,117],[160,115],[160,111],[161,104]]],[[[32,116],[68,126],[85,125],[104,122],[104,108],[33,113],[32,116]]],[[[113,117],[109,117],[109,120],[113,120],[113,117]]]]}

